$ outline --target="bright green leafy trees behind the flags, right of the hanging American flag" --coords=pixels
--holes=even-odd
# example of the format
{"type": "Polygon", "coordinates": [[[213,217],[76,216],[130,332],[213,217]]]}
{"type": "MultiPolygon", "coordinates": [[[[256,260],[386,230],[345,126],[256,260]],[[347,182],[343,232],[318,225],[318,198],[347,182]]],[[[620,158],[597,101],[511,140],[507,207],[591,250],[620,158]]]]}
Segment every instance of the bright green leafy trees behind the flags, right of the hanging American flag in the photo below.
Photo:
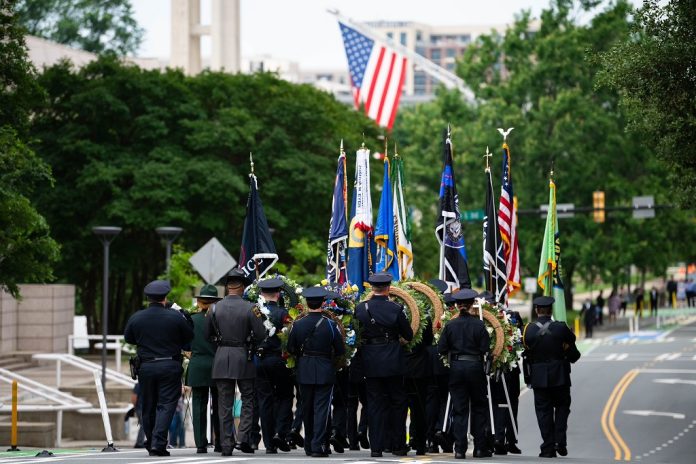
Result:
{"type": "MultiPolygon", "coordinates": [[[[414,229],[414,256],[416,270],[424,277],[438,266],[432,236],[442,169],[438,135],[448,122],[453,126],[461,210],[484,206],[482,155],[486,146],[500,147],[498,127],[515,127],[509,144],[521,210],[548,203],[552,167],[559,203],[591,205],[594,190],[606,192],[607,206],[630,205],[637,195],[654,195],[658,204],[669,203],[664,166],[642,140],[623,130],[626,120],[618,95],[595,88],[598,67],[591,57],[628,37],[629,5],[610,3],[587,24],[576,23],[577,7],[569,0],[554,1],[542,13],[538,30],[532,30],[530,15],[522,12],[504,34],[472,43],[458,63],[458,73],[476,94],[475,107],[464,104],[457,92],[443,90],[434,102],[402,111],[397,119],[395,135],[404,147],[409,174],[405,198],[422,213],[414,229]]],[[[579,7],[594,4],[583,2],[579,7]]],[[[500,149],[493,152],[498,194],[500,149]]],[[[563,219],[566,287],[571,290],[578,274],[588,279],[600,274],[620,283],[629,264],[662,273],[669,262],[691,253],[678,239],[686,233],[693,242],[693,227],[687,221],[681,211],[661,211],[656,220],[647,221],[633,220],[630,213],[610,213],[604,224],[583,214],[563,219]]],[[[543,230],[540,217],[519,217],[523,277],[536,277],[543,230]]],[[[465,224],[464,235],[473,279],[481,272],[481,224],[465,224]]]]}

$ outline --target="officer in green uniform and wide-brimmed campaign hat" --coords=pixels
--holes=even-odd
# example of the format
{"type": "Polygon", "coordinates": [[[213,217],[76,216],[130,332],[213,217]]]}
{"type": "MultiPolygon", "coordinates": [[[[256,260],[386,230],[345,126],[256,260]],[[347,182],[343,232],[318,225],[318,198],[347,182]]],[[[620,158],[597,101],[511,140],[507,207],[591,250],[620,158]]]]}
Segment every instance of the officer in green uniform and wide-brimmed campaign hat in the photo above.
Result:
{"type": "Polygon", "coordinates": [[[222,451],[220,447],[220,419],[218,416],[218,392],[210,377],[215,358],[216,346],[210,343],[205,335],[209,308],[217,301],[218,291],[215,285],[204,285],[196,295],[196,306],[199,311],[191,316],[193,321],[193,341],[191,342],[191,359],[186,371],[186,385],[191,387],[191,418],[193,421],[193,439],[196,442],[197,453],[208,452],[208,397],[212,398],[212,426],[215,436],[215,452],[222,451]]]}

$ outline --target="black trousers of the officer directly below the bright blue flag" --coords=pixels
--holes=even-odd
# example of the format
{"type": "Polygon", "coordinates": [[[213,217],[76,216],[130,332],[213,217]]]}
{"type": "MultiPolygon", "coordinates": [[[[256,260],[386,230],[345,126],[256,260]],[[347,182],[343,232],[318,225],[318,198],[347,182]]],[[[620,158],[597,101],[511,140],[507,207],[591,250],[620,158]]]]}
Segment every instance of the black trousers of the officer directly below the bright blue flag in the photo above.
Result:
{"type": "Polygon", "coordinates": [[[406,448],[407,399],[403,377],[369,377],[365,382],[370,448],[372,451],[406,448]]]}

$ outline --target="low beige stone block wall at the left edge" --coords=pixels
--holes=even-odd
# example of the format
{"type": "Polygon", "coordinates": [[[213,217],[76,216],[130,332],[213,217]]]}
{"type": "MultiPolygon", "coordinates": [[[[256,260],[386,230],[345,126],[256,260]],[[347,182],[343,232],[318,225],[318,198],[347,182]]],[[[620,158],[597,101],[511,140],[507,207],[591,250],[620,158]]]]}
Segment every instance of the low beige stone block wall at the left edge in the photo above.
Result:
{"type": "Polygon", "coordinates": [[[74,285],[23,284],[16,301],[0,294],[2,352],[66,353],[75,316],[74,285]]]}

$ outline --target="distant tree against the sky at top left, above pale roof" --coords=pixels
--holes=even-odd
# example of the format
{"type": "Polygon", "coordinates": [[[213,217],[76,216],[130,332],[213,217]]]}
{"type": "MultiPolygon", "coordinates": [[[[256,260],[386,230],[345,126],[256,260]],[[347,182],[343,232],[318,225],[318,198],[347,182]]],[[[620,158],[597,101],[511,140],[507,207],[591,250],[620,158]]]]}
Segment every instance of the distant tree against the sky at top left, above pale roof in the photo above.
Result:
{"type": "Polygon", "coordinates": [[[19,0],[16,12],[31,35],[92,53],[135,53],[143,29],[130,0],[19,0]]]}

